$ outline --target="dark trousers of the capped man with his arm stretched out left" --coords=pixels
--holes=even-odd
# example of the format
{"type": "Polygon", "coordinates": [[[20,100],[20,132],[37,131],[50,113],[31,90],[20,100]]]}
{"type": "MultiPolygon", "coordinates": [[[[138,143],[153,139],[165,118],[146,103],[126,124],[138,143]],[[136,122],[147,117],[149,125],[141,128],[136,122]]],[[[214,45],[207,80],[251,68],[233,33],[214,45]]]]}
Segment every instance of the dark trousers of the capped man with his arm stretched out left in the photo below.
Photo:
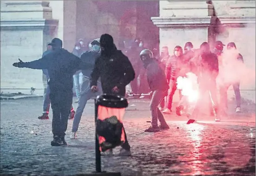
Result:
{"type": "Polygon", "coordinates": [[[51,89],[50,91],[50,99],[53,110],[53,136],[65,136],[70,113],[70,106],[72,105],[72,94],[72,90],[61,91],[51,89]]]}

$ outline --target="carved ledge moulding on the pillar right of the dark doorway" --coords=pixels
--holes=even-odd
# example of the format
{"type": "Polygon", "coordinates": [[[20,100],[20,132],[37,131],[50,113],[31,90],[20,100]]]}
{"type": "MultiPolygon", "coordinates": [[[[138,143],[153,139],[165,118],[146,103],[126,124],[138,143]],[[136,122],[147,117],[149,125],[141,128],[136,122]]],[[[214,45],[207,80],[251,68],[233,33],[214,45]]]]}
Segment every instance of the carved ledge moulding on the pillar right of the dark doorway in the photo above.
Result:
{"type": "Polygon", "coordinates": [[[151,17],[160,28],[202,28],[210,26],[211,17],[151,17]]]}

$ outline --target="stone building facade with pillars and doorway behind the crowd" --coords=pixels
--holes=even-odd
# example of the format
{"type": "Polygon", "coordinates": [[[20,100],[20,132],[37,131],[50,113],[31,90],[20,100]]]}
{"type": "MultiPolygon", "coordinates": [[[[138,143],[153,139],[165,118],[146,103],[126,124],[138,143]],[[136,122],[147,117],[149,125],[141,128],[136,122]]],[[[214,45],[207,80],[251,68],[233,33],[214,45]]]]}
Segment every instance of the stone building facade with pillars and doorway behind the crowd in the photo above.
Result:
{"type": "MultiPolygon", "coordinates": [[[[225,44],[233,41],[244,63],[252,71],[256,70],[255,0],[160,0],[157,5],[151,0],[0,2],[1,91],[26,91],[34,87],[36,93],[42,93],[42,72],[15,69],[12,63],[18,58],[24,61],[40,58],[46,42],[53,37],[62,39],[69,51],[76,40],[98,38],[102,33],[112,34],[116,42],[121,37],[143,35],[158,39],[159,33],[159,47],[169,46],[170,53],[174,46],[184,46],[187,41],[195,47],[204,41],[211,45],[216,40],[225,44]],[[113,6],[118,10],[114,12],[113,6]],[[147,13],[140,10],[143,7],[149,9],[147,13]],[[147,15],[151,20],[144,22],[147,15]],[[140,25],[141,22],[144,25],[140,25]]],[[[255,84],[255,79],[242,82],[241,88],[255,93],[255,84]]]]}

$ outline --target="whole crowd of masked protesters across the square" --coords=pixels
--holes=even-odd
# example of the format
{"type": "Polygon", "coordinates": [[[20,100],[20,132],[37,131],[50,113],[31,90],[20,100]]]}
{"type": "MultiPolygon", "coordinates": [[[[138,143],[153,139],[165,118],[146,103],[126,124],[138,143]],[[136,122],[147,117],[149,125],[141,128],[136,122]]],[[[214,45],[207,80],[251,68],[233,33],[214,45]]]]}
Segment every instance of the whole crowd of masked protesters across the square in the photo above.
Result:
{"type": "MultiPolygon", "coordinates": [[[[49,119],[48,112],[52,103],[51,144],[59,146],[66,145],[65,131],[68,119],[74,118],[71,138],[77,138],[76,132],[87,100],[102,93],[125,96],[125,87],[128,84],[131,85],[133,94],[150,92],[152,95],[151,127],[145,131],[168,130],[169,126],[162,112],[171,113],[173,95],[177,90],[177,78],[186,77],[189,72],[197,75],[199,94],[209,92],[210,114],[215,117],[215,121],[220,121],[220,116],[226,114],[227,90],[230,85],[233,85],[236,95],[236,112],[241,112],[240,80],[225,79],[223,73],[231,62],[243,64],[243,57],[237,52],[234,42],[228,43],[227,50],[223,52],[224,46],[221,41],[217,41],[211,51],[207,42],[203,42],[198,49],[195,49],[191,42],[187,42],[184,48],[175,46],[171,49],[172,52],[169,52],[168,46],[163,46],[159,52],[156,48],[146,48],[142,40],[135,39],[121,51],[117,49],[111,35],[103,34],[100,39],[93,39],[87,44],[83,39],[79,39],[70,53],[62,48],[60,39],[54,38],[47,44],[42,59],[32,62],[22,62],[19,59],[20,62],[13,63],[13,66],[43,71],[44,77],[47,78],[47,87],[43,115],[38,118],[49,119]],[[230,58],[224,56],[225,52],[232,53],[229,55],[230,58]],[[217,76],[221,78],[219,103],[217,76]],[[73,85],[78,103],[76,112],[72,108],[73,85]]],[[[179,97],[183,97],[180,90],[179,97]]],[[[200,106],[200,101],[197,101],[191,113],[192,118],[197,117],[200,106]]],[[[176,107],[177,115],[181,115],[183,109],[183,104],[179,103],[176,107]]],[[[126,134],[120,154],[131,155],[126,134]]]]}

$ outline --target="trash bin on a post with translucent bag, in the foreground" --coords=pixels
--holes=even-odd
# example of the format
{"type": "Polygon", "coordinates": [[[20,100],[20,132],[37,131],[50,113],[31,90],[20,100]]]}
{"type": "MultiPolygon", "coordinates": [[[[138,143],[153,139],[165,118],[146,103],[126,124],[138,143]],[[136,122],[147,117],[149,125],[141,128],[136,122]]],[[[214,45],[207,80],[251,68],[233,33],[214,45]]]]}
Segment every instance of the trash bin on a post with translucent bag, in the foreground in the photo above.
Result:
{"type": "Polygon", "coordinates": [[[127,106],[127,99],[121,96],[103,94],[95,99],[96,172],[101,172],[100,151],[125,142],[122,120],[127,106]]]}

